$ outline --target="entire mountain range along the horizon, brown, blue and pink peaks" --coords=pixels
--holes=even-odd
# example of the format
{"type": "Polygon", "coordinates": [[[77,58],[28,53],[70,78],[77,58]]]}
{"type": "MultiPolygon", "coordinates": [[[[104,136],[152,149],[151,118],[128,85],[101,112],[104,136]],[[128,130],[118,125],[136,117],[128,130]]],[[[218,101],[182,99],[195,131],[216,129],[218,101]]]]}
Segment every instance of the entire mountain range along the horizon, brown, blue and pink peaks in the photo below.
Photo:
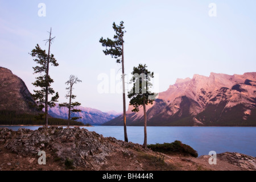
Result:
{"type": "MultiPolygon", "coordinates": [[[[22,79],[0,67],[0,111],[38,113],[22,79]]],[[[79,106],[73,114],[91,125],[123,125],[122,113],[79,106]]],[[[142,126],[143,110],[127,110],[127,125],[142,126]]],[[[177,79],[159,93],[153,105],[147,105],[148,126],[256,126],[256,72],[243,75],[210,73],[209,77],[177,79]]],[[[49,109],[56,118],[68,118],[68,109],[58,105],[49,109]]]]}

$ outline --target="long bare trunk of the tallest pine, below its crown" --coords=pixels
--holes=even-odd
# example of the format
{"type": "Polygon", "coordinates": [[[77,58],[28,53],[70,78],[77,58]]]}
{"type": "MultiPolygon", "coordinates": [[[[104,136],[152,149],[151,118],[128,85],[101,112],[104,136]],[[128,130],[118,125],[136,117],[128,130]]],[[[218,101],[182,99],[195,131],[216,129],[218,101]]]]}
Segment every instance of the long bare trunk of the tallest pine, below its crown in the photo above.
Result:
{"type": "Polygon", "coordinates": [[[125,142],[128,142],[126,131],[126,103],[125,103],[125,65],[123,63],[123,43],[122,43],[122,81],[123,81],[123,129],[125,131],[125,142]]]}

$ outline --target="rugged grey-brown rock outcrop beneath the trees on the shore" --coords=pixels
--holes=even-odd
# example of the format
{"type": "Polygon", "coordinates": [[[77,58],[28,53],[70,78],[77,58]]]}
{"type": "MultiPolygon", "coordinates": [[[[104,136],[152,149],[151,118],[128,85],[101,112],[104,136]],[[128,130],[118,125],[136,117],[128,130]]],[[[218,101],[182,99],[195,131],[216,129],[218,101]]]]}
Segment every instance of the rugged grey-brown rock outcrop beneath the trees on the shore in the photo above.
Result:
{"type": "MultiPolygon", "coordinates": [[[[0,129],[0,137],[9,131],[0,129]]],[[[80,127],[63,129],[57,126],[11,131],[11,137],[5,140],[5,148],[18,154],[18,158],[26,157],[28,164],[35,163],[35,159],[39,158],[38,152],[44,150],[47,158],[60,158],[61,162],[71,159],[73,166],[91,170],[100,170],[106,164],[107,156],[115,152],[123,154],[129,160],[135,160],[136,156],[132,150],[146,151],[140,144],[127,143],[112,137],[104,138],[80,127]]]]}

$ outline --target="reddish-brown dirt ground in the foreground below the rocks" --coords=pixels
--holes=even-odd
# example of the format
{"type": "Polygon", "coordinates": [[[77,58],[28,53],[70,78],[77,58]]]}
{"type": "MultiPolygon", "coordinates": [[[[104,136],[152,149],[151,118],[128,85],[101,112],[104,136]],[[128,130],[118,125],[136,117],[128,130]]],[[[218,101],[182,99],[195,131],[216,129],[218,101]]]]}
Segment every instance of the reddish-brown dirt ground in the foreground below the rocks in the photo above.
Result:
{"type": "MultiPolygon", "coordinates": [[[[245,168],[230,164],[224,160],[217,160],[217,164],[208,163],[209,156],[193,158],[182,155],[165,155],[159,152],[135,151],[113,152],[106,157],[97,170],[100,171],[243,171],[245,168]]],[[[67,168],[63,161],[56,158],[51,151],[46,151],[46,165],[39,165],[40,156],[21,156],[6,150],[0,144],[0,171],[63,171],[78,170],[90,171],[88,167],[67,168]]]]}

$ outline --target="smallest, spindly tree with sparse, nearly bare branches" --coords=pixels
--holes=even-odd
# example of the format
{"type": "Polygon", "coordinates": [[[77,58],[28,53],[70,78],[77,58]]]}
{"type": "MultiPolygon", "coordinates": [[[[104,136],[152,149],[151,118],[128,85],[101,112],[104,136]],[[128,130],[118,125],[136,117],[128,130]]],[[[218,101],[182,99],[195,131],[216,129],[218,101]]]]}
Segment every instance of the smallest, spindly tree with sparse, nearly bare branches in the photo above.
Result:
{"type": "Polygon", "coordinates": [[[80,106],[81,104],[79,102],[72,102],[72,99],[75,99],[76,96],[72,94],[73,89],[74,89],[74,85],[77,84],[78,82],[82,82],[81,80],[79,80],[79,78],[77,78],[74,75],[69,76],[69,80],[67,82],[65,82],[65,84],[68,85],[68,87],[66,88],[68,90],[68,94],[65,96],[66,98],[69,98],[69,102],[64,102],[62,104],[59,104],[59,107],[68,107],[68,127],[69,127],[69,123],[70,123],[70,119],[72,119],[73,121],[76,121],[77,119],[80,119],[81,117],[72,117],[71,118],[71,112],[72,113],[77,113],[80,112],[80,109],[74,109],[74,107],[76,106],[80,106]]]}

